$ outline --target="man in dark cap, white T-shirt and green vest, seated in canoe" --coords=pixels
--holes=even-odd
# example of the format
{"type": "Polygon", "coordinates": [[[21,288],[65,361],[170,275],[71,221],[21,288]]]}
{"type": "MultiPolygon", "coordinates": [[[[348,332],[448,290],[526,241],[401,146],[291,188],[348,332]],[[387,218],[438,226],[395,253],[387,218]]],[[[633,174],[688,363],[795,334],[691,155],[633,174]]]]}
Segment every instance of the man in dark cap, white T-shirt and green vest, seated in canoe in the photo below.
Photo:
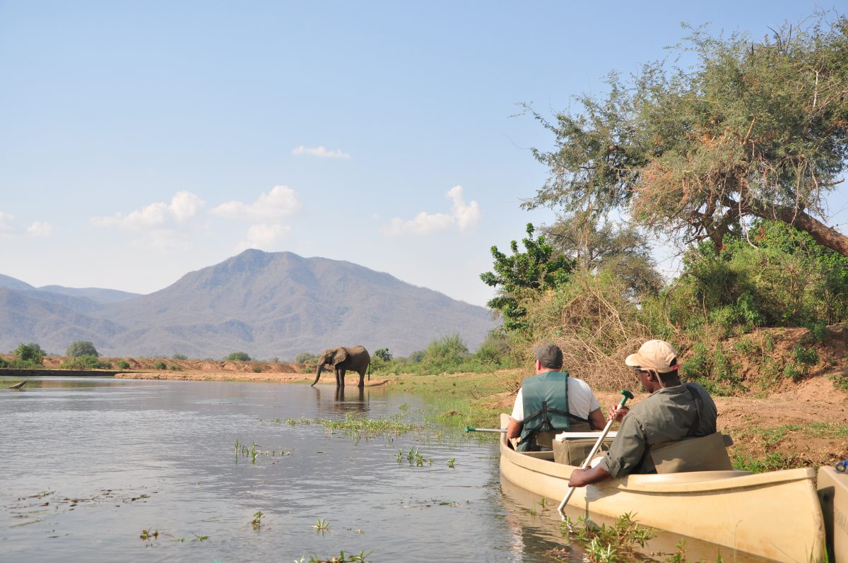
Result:
{"type": "Polygon", "coordinates": [[[562,350],[545,344],[535,350],[536,375],[518,390],[506,427],[507,438],[521,438],[518,451],[551,449],[555,434],[566,430],[591,431],[605,426],[600,404],[586,382],[562,369],[562,350]]]}

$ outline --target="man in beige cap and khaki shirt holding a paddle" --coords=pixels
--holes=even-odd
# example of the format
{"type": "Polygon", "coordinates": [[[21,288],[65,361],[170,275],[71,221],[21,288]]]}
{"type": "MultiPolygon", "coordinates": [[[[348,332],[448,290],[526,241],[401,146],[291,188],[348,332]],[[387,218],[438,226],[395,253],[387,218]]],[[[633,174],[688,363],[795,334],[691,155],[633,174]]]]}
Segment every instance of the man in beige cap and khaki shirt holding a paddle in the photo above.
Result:
{"type": "Polygon", "coordinates": [[[680,382],[678,354],[671,344],[649,340],[625,363],[637,372],[650,397],[633,409],[611,410],[622,426],[610,451],[594,467],[574,470],[568,482],[572,487],[631,473],[656,473],[652,448],[716,432],[716,404],[704,387],[680,382]]]}

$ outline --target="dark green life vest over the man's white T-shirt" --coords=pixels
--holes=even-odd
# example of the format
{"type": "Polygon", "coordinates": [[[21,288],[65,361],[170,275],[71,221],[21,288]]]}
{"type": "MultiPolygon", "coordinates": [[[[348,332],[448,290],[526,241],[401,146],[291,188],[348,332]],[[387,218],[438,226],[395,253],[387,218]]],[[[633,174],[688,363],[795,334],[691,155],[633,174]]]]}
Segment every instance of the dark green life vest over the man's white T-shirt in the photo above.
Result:
{"type": "Polygon", "coordinates": [[[588,423],[587,419],[568,411],[568,372],[547,371],[527,377],[522,383],[524,420],[518,451],[538,451],[536,435],[539,432],[565,432],[572,427],[572,419],[588,423]]]}

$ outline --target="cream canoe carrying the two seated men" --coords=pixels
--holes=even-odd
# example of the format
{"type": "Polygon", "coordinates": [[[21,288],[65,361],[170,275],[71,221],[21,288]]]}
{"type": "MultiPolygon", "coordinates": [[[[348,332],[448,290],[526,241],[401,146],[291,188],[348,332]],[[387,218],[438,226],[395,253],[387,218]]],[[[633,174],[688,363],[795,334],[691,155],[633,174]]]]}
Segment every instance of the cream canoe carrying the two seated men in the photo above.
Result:
{"type": "MultiPolygon", "coordinates": [[[[500,419],[505,428],[509,415],[500,419]]],[[[555,463],[553,452],[516,452],[501,434],[501,475],[519,487],[558,503],[575,469],[555,463]]],[[[612,518],[631,512],[644,526],[728,548],[724,560],[737,551],[799,563],[825,554],[816,472],[809,468],[631,475],[575,489],[567,509],[612,518]]]]}

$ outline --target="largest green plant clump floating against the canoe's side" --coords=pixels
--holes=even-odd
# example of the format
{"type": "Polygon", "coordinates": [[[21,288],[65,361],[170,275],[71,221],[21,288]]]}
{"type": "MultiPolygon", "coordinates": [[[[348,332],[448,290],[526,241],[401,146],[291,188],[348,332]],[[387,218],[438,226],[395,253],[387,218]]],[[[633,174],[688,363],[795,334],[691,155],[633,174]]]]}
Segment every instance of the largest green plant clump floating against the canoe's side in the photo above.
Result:
{"type": "MultiPolygon", "coordinates": [[[[544,499],[543,499],[544,501],[544,499]]],[[[542,504],[544,510],[545,504],[542,504]]],[[[638,560],[639,556],[634,553],[634,547],[644,548],[645,543],[654,537],[654,529],[645,527],[633,520],[633,513],[623,514],[615,524],[597,526],[594,522],[586,520],[581,516],[577,521],[572,521],[566,516],[561,524],[563,537],[568,536],[583,547],[586,556],[595,563],[621,563],[623,561],[638,560]]],[[[682,551],[678,549],[676,554],[683,557],[682,551]]],[[[683,563],[685,558],[674,560],[683,563]]]]}

